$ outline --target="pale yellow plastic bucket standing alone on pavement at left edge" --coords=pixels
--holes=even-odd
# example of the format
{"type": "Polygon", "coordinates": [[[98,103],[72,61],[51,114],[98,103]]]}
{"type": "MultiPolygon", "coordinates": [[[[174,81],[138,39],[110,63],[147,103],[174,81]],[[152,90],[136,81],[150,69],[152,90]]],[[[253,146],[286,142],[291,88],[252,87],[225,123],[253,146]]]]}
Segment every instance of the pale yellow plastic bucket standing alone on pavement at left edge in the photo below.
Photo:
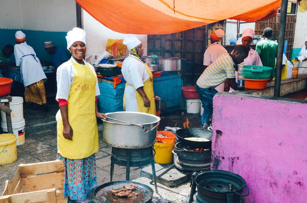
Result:
{"type": "Polygon", "coordinates": [[[0,165],[17,160],[17,138],[14,134],[0,134],[0,165]]]}

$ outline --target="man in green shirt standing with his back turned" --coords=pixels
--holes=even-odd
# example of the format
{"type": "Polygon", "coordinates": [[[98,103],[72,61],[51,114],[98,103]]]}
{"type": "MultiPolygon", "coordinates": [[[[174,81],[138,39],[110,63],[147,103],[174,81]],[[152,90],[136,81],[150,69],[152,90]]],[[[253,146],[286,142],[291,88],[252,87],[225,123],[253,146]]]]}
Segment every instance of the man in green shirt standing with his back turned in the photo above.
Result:
{"type": "Polygon", "coordinates": [[[264,40],[256,44],[256,52],[258,52],[263,66],[273,68],[270,79],[275,78],[275,58],[277,54],[277,43],[270,40],[272,37],[272,28],[263,30],[264,40]]]}

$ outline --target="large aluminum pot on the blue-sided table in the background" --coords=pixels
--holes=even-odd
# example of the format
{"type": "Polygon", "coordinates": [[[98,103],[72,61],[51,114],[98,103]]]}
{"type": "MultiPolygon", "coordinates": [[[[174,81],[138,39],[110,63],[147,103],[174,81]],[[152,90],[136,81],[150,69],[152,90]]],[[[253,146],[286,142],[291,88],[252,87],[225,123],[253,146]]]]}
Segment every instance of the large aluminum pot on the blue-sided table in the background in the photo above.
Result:
{"type": "Polygon", "coordinates": [[[159,71],[180,71],[182,58],[162,57],[158,58],[159,71]]]}

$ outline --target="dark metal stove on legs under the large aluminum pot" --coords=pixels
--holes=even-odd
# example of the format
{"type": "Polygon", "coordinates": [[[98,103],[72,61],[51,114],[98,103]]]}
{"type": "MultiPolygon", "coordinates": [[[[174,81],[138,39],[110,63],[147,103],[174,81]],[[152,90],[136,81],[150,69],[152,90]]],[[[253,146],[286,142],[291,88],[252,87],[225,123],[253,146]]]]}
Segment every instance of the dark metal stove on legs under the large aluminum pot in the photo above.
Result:
{"type": "Polygon", "coordinates": [[[150,164],[152,165],[152,176],[155,183],[155,191],[158,192],[156,175],[154,150],[152,147],[139,149],[123,149],[112,147],[110,182],[113,179],[114,164],[126,166],[126,181],[130,179],[130,167],[140,167],[150,164]]]}

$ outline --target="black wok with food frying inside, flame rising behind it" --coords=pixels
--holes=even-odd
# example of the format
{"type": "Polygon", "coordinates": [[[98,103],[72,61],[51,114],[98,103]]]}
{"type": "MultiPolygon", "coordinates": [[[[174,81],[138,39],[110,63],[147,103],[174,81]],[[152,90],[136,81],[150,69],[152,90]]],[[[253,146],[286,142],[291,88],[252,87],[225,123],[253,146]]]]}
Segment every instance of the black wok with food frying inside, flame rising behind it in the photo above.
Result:
{"type": "Polygon", "coordinates": [[[176,130],[176,136],[180,142],[189,147],[211,149],[212,131],[203,128],[182,128],[176,130]],[[198,137],[210,141],[192,141],[184,138],[198,137]]]}

